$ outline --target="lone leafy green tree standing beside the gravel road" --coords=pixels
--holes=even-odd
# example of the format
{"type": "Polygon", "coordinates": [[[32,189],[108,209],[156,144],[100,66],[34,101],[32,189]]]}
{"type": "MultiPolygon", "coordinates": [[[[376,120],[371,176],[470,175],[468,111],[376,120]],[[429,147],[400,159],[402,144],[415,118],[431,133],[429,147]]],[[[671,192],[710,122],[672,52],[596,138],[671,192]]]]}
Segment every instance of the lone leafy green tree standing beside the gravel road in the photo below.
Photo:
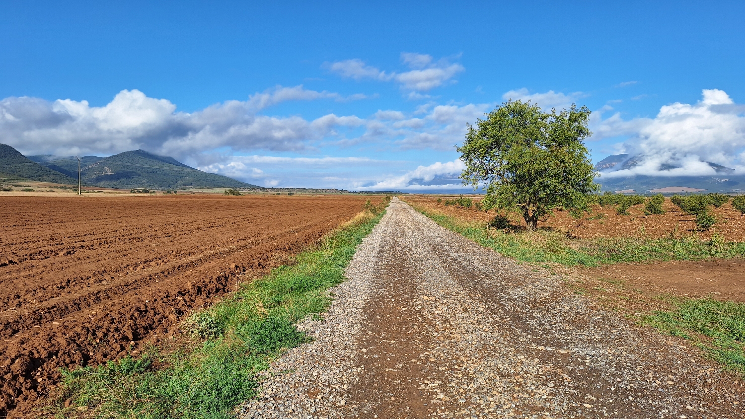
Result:
{"type": "Polygon", "coordinates": [[[517,211],[530,229],[554,208],[586,211],[589,193],[597,191],[597,172],[583,140],[590,115],[572,105],[551,113],[528,102],[507,101],[469,124],[457,147],[466,170],[464,185],[484,185],[487,208],[517,211]]]}

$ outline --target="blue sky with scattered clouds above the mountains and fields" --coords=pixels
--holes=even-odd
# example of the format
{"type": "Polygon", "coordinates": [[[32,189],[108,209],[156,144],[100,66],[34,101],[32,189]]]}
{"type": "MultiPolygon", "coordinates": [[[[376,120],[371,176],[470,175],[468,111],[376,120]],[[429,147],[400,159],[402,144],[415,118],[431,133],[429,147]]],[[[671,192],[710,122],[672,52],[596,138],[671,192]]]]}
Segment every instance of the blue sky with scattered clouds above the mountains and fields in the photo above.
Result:
{"type": "Polygon", "coordinates": [[[449,191],[466,122],[513,98],[588,106],[593,161],[742,169],[745,3],[515,3],[3,2],[0,141],[449,191]]]}

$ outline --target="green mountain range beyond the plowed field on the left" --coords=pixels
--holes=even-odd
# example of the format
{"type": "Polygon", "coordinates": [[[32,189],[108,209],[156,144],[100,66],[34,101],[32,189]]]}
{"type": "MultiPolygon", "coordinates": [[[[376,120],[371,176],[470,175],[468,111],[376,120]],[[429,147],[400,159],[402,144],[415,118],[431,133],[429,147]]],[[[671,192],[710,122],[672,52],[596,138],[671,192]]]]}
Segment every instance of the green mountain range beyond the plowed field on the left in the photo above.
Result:
{"type": "MultiPolygon", "coordinates": [[[[110,157],[85,156],[81,158],[80,169],[83,185],[101,188],[259,188],[145,150],[126,151],[110,157]]],[[[27,158],[13,147],[0,144],[0,173],[5,177],[76,185],[77,158],[48,155],[27,158]]]]}

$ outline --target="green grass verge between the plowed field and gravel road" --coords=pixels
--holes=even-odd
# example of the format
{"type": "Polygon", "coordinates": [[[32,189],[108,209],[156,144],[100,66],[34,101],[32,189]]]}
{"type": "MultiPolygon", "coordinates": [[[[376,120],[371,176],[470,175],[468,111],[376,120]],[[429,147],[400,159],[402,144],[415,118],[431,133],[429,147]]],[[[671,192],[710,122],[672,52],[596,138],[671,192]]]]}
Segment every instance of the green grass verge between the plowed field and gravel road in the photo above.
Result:
{"type": "Polygon", "coordinates": [[[308,341],[295,324],[329,307],[329,288],[344,281],[355,246],[381,219],[385,203],[297,255],[296,264],[273,269],[192,314],[183,323],[193,337],[186,348],[170,354],[150,348],[137,358],[63,371],[43,416],[231,418],[235,406],[256,395],[256,374],[285,349],[308,341]]]}

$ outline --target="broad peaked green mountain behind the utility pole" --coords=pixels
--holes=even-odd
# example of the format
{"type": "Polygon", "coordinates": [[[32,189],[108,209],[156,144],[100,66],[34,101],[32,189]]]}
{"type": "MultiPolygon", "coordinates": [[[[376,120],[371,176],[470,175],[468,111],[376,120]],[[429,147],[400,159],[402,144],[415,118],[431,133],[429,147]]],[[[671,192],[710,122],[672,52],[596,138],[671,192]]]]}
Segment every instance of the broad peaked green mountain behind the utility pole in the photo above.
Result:
{"type": "MultiPolygon", "coordinates": [[[[66,166],[55,165],[67,170],[66,166]]],[[[119,153],[86,165],[83,182],[102,188],[122,189],[259,188],[227,176],[205,173],[172,157],[156,156],[144,150],[119,153]]]]}

